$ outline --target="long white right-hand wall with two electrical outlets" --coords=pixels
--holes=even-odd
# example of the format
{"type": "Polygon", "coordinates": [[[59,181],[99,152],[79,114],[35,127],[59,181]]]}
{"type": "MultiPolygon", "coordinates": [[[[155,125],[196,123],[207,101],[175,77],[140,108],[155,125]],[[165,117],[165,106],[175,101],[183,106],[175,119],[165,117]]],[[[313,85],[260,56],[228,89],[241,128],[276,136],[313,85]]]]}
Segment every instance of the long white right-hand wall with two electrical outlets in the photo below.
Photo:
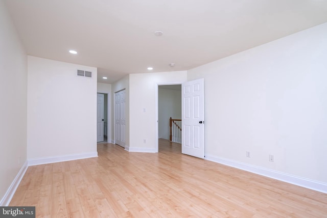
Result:
{"type": "Polygon", "coordinates": [[[204,78],[205,156],[327,183],[326,57],[324,23],[190,70],[204,78]]]}

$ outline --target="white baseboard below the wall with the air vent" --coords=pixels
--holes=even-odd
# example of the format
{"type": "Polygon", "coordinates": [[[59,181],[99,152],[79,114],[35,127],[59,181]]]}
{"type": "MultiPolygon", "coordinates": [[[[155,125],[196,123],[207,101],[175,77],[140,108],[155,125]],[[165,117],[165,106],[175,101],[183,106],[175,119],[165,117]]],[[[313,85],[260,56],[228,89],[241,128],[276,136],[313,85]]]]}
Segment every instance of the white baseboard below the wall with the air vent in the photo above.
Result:
{"type": "Polygon", "coordinates": [[[80,154],[72,154],[72,155],[64,155],[64,156],[53,156],[53,157],[43,157],[43,158],[35,158],[29,159],[28,165],[41,165],[45,163],[55,163],[55,162],[62,162],[68,160],[78,160],[90,157],[97,157],[98,152],[88,152],[88,153],[80,153],[80,154]]]}

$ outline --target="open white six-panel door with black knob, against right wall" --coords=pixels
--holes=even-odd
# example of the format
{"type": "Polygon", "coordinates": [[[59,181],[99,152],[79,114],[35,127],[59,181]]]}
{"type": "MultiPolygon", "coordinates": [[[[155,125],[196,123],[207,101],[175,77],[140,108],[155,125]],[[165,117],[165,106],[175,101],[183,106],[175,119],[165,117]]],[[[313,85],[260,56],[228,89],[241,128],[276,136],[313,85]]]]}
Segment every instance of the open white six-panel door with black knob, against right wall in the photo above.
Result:
{"type": "Polygon", "coordinates": [[[182,153],[204,158],[203,78],[182,84],[182,153]]]}

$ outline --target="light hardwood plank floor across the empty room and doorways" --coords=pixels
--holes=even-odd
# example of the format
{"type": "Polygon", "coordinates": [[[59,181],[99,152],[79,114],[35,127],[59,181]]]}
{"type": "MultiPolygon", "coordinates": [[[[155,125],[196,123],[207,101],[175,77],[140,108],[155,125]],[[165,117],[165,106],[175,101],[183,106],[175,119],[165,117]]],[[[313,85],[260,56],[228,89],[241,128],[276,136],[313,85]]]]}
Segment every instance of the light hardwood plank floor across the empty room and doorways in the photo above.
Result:
{"type": "Polygon", "coordinates": [[[31,166],[10,205],[37,217],[327,217],[327,194],[181,154],[99,144],[99,157],[31,166]]]}

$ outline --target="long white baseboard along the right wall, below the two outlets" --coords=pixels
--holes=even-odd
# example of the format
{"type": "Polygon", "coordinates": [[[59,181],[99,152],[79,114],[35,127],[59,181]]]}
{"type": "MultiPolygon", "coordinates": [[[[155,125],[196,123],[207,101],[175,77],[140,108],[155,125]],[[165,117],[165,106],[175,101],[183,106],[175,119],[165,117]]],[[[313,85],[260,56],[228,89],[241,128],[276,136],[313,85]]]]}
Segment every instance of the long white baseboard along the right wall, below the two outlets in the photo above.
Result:
{"type": "Polygon", "coordinates": [[[306,178],[301,178],[301,177],[285,174],[282,172],[269,170],[266,168],[256,167],[253,165],[248,165],[246,163],[242,163],[242,162],[238,162],[238,161],[234,161],[234,160],[230,160],[230,159],[225,159],[225,158],[221,158],[221,157],[217,157],[217,156],[212,156],[212,155],[205,155],[205,159],[211,160],[214,162],[218,162],[218,163],[221,163],[221,164],[229,166],[229,167],[234,167],[234,168],[245,170],[245,171],[248,171],[251,173],[266,176],[266,177],[269,177],[272,179],[277,179],[277,180],[280,180],[283,182],[288,182],[288,183],[291,183],[294,185],[310,188],[312,190],[316,190],[318,192],[327,194],[327,184],[326,183],[322,183],[322,182],[318,182],[318,181],[314,181],[314,180],[310,180],[310,179],[306,179],[306,178]]]}

